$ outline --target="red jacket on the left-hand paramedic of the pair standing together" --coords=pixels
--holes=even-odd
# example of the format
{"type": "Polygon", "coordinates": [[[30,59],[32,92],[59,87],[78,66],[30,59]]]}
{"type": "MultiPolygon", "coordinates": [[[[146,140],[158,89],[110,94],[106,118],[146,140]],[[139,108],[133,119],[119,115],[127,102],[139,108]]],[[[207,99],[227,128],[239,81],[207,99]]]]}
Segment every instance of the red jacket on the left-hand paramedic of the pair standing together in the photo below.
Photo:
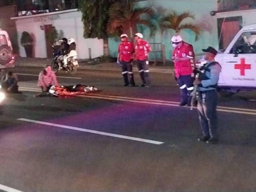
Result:
{"type": "Polygon", "coordinates": [[[134,46],[131,42],[125,41],[119,44],[118,47],[119,61],[129,62],[134,53],[134,46]]]}

